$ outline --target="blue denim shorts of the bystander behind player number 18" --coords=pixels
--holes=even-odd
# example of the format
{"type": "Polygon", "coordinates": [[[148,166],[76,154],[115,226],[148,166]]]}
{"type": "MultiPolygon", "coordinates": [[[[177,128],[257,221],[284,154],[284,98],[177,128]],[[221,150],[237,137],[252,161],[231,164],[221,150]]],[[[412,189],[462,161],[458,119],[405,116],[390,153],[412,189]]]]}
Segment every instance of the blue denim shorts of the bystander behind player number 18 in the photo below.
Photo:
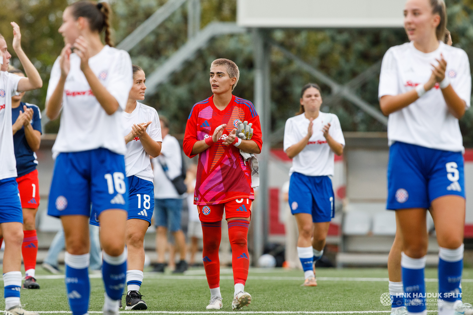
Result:
{"type": "Polygon", "coordinates": [[[155,199],[155,225],[169,228],[171,232],[181,229],[182,199],[155,199]]]}

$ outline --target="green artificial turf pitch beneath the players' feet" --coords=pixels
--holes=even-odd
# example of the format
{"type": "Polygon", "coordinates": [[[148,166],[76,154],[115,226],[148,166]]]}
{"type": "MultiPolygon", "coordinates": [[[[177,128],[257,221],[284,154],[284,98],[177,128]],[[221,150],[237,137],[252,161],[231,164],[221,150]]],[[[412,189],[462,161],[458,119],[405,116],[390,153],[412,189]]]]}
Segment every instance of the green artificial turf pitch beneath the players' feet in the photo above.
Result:
{"type": "MultiPolygon", "coordinates": [[[[69,311],[64,279],[41,279],[48,273],[38,268],[39,290],[21,290],[21,302],[27,303],[25,309],[31,311],[69,311]]],[[[426,278],[437,278],[436,269],[426,269],[426,278]]],[[[359,280],[324,280],[329,278],[387,278],[387,269],[317,269],[318,286],[301,287],[302,271],[250,270],[245,291],[253,298],[249,307],[243,311],[389,311],[389,306],[380,303],[381,294],[388,291],[387,281],[359,280]]],[[[473,279],[473,269],[464,270],[464,279],[473,279]]],[[[100,278],[90,279],[90,311],[101,311],[104,301],[104,287],[100,278]]],[[[437,292],[437,282],[426,282],[427,292],[437,292]]],[[[3,282],[0,282],[3,288],[3,282]]],[[[220,290],[223,308],[231,311],[233,299],[232,274],[221,274],[220,290]]],[[[473,300],[473,282],[462,283],[464,302],[473,300]]],[[[148,304],[148,311],[206,311],[210,292],[205,275],[199,270],[193,274],[175,276],[147,273],[140,289],[143,299],[148,304]]],[[[123,298],[124,304],[124,298],[123,298]]],[[[0,301],[0,309],[4,307],[0,301]]],[[[437,310],[437,306],[428,306],[428,310],[437,310]]],[[[211,312],[211,311],[210,311],[211,312]]],[[[123,312],[125,313],[125,312],[123,312]]]]}

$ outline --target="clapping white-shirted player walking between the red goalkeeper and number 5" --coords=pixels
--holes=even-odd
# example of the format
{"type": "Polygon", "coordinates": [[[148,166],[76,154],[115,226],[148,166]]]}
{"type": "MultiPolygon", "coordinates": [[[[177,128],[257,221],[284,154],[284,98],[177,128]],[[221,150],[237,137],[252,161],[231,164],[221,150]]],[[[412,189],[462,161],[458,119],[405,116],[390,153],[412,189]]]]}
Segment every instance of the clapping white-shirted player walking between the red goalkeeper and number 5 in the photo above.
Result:
{"type": "Polygon", "coordinates": [[[314,262],[324,254],[330,220],[335,215],[332,188],[334,154],[342,155],[345,139],[338,117],[322,113],[320,87],[308,83],[300,93],[300,110],[284,128],[284,151],[292,158],[289,205],[296,217],[297,251],[304,269],[303,286],[315,287],[314,262]],[[311,241],[311,238],[313,240],[311,241]]]}

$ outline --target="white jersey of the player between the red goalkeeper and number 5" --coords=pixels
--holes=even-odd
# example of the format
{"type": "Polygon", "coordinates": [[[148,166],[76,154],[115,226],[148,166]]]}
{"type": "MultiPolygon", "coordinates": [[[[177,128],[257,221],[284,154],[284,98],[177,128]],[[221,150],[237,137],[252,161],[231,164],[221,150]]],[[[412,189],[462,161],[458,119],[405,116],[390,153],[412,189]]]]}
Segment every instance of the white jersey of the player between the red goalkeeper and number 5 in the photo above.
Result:
{"type": "MultiPolygon", "coordinates": [[[[335,153],[325,140],[322,128],[330,122],[328,133],[333,140],[345,145],[342,127],[337,115],[319,112],[319,116],[313,120],[312,137],[307,145],[292,159],[292,167],[289,176],[294,173],[301,173],[307,176],[333,176],[333,161],[335,153]]],[[[284,128],[284,152],[307,136],[307,129],[310,121],[305,114],[300,114],[289,118],[284,128]]]]}

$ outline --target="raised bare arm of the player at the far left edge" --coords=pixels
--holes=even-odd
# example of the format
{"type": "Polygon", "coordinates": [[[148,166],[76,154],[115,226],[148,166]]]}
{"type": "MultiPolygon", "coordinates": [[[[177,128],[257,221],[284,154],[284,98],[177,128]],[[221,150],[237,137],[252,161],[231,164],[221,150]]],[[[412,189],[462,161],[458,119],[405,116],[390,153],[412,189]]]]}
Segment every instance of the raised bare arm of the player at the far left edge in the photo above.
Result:
{"type": "Polygon", "coordinates": [[[17,90],[23,92],[40,88],[43,86],[43,80],[41,79],[38,70],[36,70],[33,63],[31,63],[21,48],[20,27],[15,22],[11,22],[10,24],[13,26],[13,50],[17,53],[18,59],[20,60],[27,77],[19,80],[17,90]]]}

